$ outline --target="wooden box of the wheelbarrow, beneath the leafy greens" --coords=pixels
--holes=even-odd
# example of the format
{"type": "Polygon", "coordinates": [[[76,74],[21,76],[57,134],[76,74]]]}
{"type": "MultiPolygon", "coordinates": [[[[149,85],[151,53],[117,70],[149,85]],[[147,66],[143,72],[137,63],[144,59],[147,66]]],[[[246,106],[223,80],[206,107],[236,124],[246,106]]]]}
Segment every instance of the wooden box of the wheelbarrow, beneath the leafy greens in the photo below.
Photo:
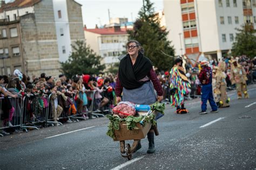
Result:
{"type": "Polygon", "coordinates": [[[116,137],[114,141],[144,139],[151,128],[151,122],[145,123],[145,126],[137,123],[138,130],[127,130],[125,121],[121,121],[119,125],[119,130],[114,131],[114,136],[116,137]]]}

